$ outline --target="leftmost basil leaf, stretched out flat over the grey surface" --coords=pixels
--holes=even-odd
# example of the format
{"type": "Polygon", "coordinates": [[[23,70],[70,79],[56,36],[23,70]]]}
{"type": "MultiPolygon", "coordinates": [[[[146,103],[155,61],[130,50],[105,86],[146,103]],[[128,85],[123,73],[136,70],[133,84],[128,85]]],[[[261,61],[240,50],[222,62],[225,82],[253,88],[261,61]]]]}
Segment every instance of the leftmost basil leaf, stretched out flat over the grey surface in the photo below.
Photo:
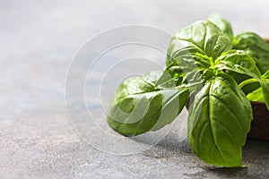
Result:
{"type": "Polygon", "coordinates": [[[157,131],[185,106],[187,88],[176,89],[168,72],[150,72],[124,81],[108,110],[108,124],[126,136],[157,131]]]}

